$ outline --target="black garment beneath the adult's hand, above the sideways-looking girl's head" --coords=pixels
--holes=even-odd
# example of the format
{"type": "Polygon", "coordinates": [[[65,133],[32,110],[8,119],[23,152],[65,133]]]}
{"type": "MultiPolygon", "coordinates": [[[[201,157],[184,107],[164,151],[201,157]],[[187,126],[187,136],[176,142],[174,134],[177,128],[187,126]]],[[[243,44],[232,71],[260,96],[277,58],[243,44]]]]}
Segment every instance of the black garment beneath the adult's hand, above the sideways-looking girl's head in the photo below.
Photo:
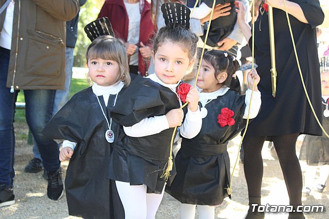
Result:
{"type": "MultiPolygon", "coordinates": [[[[203,1],[208,7],[212,8],[213,0],[203,1]]],[[[230,3],[231,10],[227,16],[221,16],[211,21],[209,28],[207,45],[216,47],[217,43],[227,38],[227,36],[233,31],[236,22],[236,11],[234,0],[216,0],[216,5],[230,3]]],[[[205,28],[204,34],[201,36],[202,40],[205,41],[207,29],[205,28]]]]}

